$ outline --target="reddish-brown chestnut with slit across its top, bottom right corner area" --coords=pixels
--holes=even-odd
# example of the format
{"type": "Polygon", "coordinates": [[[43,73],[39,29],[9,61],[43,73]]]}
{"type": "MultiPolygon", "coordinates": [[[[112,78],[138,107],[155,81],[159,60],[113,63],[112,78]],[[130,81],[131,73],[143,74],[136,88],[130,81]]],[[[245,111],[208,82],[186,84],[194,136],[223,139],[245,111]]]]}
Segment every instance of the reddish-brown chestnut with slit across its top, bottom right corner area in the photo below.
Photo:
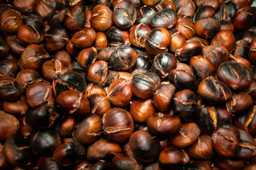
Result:
{"type": "Polygon", "coordinates": [[[220,156],[233,158],[238,152],[240,133],[234,125],[223,125],[211,135],[213,148],[220,156]]]}

